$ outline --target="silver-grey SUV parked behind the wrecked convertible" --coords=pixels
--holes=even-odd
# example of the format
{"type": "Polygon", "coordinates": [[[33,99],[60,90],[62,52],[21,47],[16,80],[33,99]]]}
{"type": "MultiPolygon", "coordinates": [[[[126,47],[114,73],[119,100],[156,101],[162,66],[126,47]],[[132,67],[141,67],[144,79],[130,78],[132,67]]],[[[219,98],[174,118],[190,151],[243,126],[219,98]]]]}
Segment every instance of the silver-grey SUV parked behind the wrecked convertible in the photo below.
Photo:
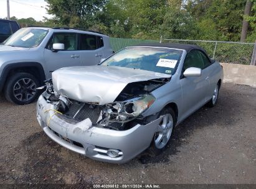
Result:
{"type": "Polygon", "coordinates": [[[37,98],[37,87],[62,67],[97,65],[113,53],[107,35],[67,27],[26,27],[0,45],[0,92],[16,104],[37,98]]]}

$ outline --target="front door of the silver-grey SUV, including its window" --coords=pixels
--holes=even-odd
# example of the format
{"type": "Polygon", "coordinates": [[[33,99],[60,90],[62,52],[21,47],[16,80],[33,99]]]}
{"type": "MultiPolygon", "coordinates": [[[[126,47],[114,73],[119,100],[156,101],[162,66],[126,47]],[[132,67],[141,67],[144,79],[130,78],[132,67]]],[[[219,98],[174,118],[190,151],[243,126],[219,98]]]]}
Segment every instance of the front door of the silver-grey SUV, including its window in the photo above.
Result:
{"type": "Polygon", "coordinates": [[[58,68],[81,65],[77,33],[55,32],[45,47],[44,60],[50,73],[58,68]],[[64,44],[64,50],[54,51],[52,45],[55,43],[64,44]]]}

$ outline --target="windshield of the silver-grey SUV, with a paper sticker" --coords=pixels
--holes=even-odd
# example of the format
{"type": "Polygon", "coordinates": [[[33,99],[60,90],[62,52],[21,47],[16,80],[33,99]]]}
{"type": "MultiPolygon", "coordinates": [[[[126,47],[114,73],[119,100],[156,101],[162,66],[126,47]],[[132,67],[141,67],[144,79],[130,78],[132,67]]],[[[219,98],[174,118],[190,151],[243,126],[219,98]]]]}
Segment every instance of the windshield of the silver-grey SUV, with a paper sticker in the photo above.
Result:
{"type": "Polygon", "coordinates": [[[46,34],[47,30],[44,29],[22,28],[11,35],[3,44],[12,47],[37,47],[46,34]]]}

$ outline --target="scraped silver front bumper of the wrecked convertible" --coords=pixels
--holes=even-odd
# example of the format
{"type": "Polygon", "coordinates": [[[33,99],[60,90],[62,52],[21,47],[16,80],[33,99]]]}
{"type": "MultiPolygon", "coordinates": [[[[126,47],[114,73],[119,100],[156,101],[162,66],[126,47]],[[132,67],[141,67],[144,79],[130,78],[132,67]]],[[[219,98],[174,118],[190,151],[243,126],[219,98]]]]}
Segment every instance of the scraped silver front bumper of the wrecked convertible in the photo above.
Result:
{"type": "Polygon", "coordinates": [[[151,144],[161,119],[115,131],[92,126],[88,118],[67,122],[42,96],[37,101],[37,120],[47,136],[67,149],[103,162],[123,164],[143,152],[151,144]]]}

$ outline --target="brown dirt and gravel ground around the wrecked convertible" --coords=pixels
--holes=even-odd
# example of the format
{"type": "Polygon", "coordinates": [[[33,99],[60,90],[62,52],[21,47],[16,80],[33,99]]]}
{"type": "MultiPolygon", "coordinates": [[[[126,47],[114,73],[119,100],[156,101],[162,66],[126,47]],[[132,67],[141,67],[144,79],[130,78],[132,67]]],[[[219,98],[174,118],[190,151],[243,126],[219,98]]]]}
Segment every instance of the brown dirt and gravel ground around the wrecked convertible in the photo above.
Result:
{"type": "Polygon", "coordinates": [[[176,127],[157,158],[144,152],[123,165],[75,154],[51,141],[36,103],[0,97],[0,183],[256,183],[256,88],[224,84],[216,107],[176,127]]]}

